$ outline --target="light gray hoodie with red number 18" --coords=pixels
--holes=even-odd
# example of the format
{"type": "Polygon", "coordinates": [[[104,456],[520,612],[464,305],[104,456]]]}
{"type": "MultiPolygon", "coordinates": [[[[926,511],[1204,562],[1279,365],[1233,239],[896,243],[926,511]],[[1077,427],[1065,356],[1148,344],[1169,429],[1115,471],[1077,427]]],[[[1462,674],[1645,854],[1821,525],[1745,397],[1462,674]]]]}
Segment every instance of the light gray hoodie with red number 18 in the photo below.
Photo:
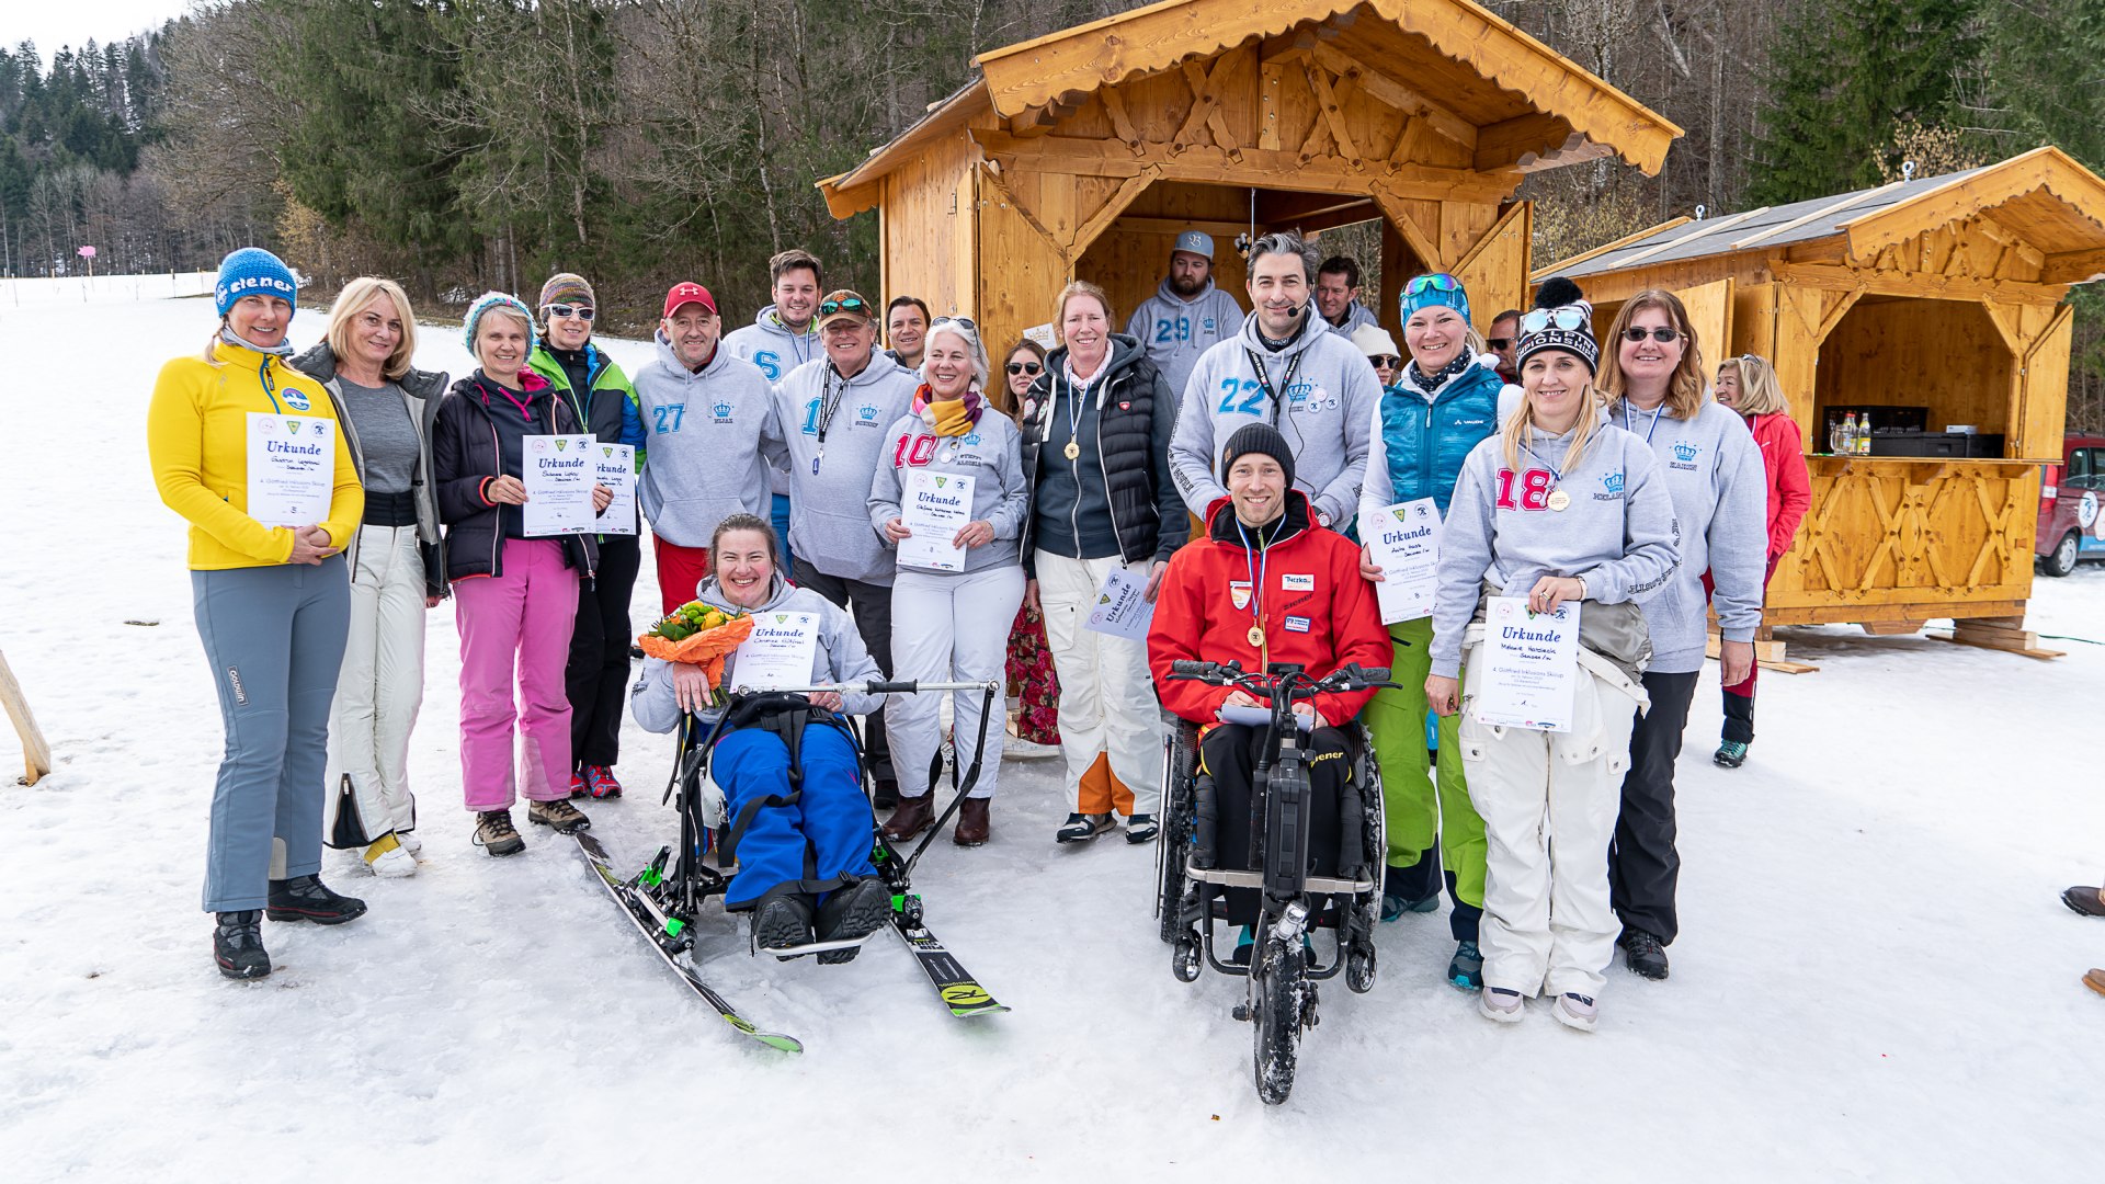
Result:
{"type": "Polygon", "coordinates": [[[1673,497],[1652,451],[1602,423],[1585,455],[1564,468],[1568,442],[1570,432],[1532,432],[1520,474],[1505,472],[1501,436],[1482,440],[1463,461],[1440,535],[1434,674],[1461,674],[1463,630],[1476,617],[1484,581],[1507,596],[1526,596],[1543,575],[1581,575],[1587,600],[1642,605],[1673,577],[1680,563],[1673,497]],[[1564,510],[1547,504],[1556,489],[1570,495],[1564,510]]]}

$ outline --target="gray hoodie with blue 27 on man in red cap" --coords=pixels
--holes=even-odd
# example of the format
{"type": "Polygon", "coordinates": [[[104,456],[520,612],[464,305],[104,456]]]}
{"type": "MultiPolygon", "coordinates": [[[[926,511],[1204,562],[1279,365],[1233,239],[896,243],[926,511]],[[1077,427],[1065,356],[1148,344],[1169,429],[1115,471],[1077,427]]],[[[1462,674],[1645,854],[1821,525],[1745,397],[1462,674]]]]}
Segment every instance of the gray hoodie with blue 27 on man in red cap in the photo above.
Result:
{"type": "Polygon", "coordinates": [[[768,516],[768,459],[787,453],[760,367],[718,346],[697,375],[659,333],[657,358],[636,371],[634,386],[650,434],[650,459],[636,487],[650,533],[705,548],[724,518],[768,516]]]}

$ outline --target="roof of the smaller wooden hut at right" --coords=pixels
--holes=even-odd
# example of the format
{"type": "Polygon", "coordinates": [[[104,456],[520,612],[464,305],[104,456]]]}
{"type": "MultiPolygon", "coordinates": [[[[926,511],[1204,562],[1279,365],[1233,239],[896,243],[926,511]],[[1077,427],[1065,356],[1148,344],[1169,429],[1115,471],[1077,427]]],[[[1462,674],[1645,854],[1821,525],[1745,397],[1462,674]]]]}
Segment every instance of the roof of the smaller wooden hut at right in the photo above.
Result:
{"type": "Polygon", "coordinates": [[[2105,276],[2105,181],[2048,145],[1962,173],[1701,221],[1678,217],[1541,268],[1535,278],[1585,278],[1829,238],[1840,240],[1852,259],[1869,263],[1886,246],[1977,215],[1993,217],[2044,257],[2040,282],[2105,276]]]}

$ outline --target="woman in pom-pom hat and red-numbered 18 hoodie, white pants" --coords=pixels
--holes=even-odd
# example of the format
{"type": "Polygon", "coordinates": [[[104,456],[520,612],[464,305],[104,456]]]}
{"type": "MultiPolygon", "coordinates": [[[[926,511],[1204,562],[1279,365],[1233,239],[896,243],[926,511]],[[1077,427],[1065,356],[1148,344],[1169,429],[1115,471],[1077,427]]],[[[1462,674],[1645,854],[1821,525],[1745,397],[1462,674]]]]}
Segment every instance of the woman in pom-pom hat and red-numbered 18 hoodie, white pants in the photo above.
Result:
{"type": "Polygon", "coordinates": [[[1461,710],[1469,801],[1484,820],[1478,1009],[1509,1024],[1547,990],[1551,1015],[1589,1032],[1615,959],[1608,838],[1652,651],[1638,600],[1680,556],[1661,463],[1608,423],[1593,392],[1591,305],[1562,278],[1541,299],[1553,305],[1522,318],[1524,398],[1455,485],[1425,702],[1442,716],[1461,710]],[[1492,662],[1509,645],[1562,657],[1520,689],[1492,662]],[[1524,691],[1562,699],[1553,723],[1486,723],[1524,712],[1513,710],[1524,691]]]}

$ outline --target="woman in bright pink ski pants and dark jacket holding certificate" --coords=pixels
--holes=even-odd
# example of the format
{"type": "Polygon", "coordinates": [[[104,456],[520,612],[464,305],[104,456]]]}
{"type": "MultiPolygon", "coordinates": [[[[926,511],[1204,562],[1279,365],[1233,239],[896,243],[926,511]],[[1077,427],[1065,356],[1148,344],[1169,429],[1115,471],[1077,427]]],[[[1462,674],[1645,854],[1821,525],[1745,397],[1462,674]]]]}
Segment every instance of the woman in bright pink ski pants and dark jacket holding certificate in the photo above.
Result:
{"type": "Polygon", "coordinates": [[[461,788],[478,847],[526,849],[526,817],[562,834],[592,826],[570,805],[570,699],[564,664],[577,624],[577,581],[592,579],[594,516],[613,491],[592,476],[585,426],[556,388],[526,369],[533,314],[503,293],[467,308],[476,373],[438,404],[432,470],[446,522],[446,579],[461,630],[461,788]],[[512,683],[518,670],[514,704],[512,683]],[[512,731],[524,739],[514,775],[512,731]]]}

